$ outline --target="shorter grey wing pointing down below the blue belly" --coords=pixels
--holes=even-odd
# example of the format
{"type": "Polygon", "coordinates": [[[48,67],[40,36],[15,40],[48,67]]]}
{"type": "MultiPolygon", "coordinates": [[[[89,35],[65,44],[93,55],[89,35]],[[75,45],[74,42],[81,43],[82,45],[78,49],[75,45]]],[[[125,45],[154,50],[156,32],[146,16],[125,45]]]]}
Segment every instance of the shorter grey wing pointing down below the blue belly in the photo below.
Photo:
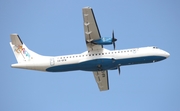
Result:
{"type": "Polygon", "coordinates": [[[109,90],[108,71],[93,71],[100,91],[109,90]]]}

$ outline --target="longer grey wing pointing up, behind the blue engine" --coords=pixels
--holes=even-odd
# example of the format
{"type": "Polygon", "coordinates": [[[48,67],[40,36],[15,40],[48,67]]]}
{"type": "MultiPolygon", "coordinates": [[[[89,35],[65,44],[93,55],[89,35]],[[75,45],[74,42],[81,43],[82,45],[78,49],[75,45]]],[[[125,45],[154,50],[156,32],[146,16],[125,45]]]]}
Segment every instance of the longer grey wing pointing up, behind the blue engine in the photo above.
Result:
{"type": "Polygon", "coordinates": [[[90,43],[92,40],[97,40],[101,38],[96,19],[93,13],[93,9],[91,7],[84,7],[83,9],[83,19],[84,19],[84,33],[86,39],[86,45],[88,51],[91,50],[101,50],[103,48],[102,45],[95,45],[90,43]],[[89,41],[89,42],[87,42],[89,41]]]}

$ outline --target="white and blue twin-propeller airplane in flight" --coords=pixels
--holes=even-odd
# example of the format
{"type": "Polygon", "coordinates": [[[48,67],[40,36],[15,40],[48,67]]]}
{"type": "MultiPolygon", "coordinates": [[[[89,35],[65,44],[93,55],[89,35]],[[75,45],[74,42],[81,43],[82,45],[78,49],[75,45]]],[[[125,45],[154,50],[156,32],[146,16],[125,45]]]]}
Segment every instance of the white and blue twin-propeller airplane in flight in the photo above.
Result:
{"type": "Polygon", "coordinates": [[[109,90],[108,70],[118,70],[127,65],[154,63],[164,60],[170,54],[156,46],[115,50],[114,37],[101,37],[98,25],[91,7],[82,9],[84,34],[87,51],[80,54],[63,56],[43,56],[28,49],[18,34],[11,34],[10,46],[17,60],[12,68],[30,69],[47,72],[91,71],[100,91],[109,90]],[[114,50],[103,48],[113,45],[114,50]]]}

